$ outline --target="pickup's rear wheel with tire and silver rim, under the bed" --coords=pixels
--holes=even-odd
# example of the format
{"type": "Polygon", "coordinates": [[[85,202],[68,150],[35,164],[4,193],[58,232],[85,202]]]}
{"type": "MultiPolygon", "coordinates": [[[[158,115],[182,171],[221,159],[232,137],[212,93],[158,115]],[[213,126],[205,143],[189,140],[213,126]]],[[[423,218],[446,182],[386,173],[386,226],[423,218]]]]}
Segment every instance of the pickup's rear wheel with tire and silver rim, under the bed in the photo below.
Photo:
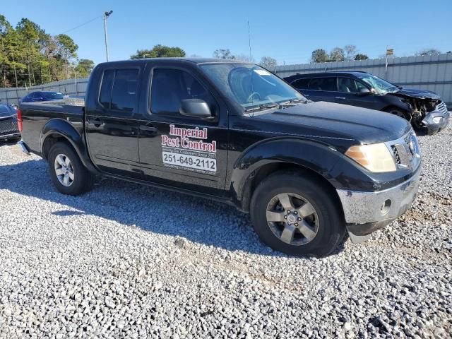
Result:
{"type": "Polygon", "coordinates": [[[78,196],[93,186],[93,175],[83,166],[75,150],[67,143],[59,142],[52,145],[48,162],[52,182],[62,194],[78,196]]]}

